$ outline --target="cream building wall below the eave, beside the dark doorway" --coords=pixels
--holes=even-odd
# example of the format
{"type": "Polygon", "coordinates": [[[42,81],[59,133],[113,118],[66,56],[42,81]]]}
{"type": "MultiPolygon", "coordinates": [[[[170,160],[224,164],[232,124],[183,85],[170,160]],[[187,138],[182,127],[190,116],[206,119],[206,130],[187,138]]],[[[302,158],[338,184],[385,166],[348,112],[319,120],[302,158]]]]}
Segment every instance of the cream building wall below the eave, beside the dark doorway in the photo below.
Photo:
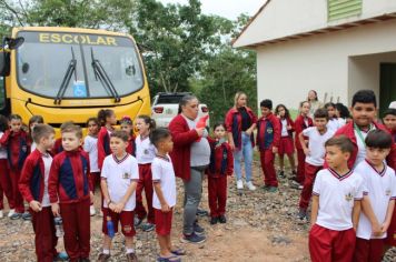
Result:
{"type": "Polygon", "coordinates": [[[396,51],[394,36],[396,21],[392,20],[261,47],[257,50],[258,101],[269,98],[274,104],[281,102],[297,109],[311,89],[318,92],[319,100],[327,93],[327,101],[333,97],[333,101],[339,99],[346,104],[360,87],[378,92],[379,70],[373,71],[374,77],[364,71],[372,71],[384,57],[377,56],[377,62],[366,66],[358,61],[357,69],[354,59],[396,51]],[[350,68],[355,70],[352,80],[350,68]],[[369,80],[356,82],[362,75],[369,80]]]}

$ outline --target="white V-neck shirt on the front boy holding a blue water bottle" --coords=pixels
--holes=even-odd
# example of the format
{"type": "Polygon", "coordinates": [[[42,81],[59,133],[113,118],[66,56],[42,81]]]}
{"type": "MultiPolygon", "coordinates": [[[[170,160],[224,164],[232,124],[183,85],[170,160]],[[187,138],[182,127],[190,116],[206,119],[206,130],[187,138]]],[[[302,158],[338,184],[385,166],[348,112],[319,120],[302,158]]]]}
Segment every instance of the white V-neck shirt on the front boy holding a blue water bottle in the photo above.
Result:
{"type": "MultiPolygon", "coordinates": [[[[121,160],[117,159],[115,154],[106,157],[101,170],[101,177],[107,181],[107,190],[109,191],[110,200],[118,203],[127,193],[128,188],[133,181],[139,180],[138,161],[130,155],[121,160]]],[[[108,208],[106,201],[103,206],[108,208]]],[[[123,211],[133,211],[136,206],[136,192],[131,194],[127,201],[123,211]]]]}

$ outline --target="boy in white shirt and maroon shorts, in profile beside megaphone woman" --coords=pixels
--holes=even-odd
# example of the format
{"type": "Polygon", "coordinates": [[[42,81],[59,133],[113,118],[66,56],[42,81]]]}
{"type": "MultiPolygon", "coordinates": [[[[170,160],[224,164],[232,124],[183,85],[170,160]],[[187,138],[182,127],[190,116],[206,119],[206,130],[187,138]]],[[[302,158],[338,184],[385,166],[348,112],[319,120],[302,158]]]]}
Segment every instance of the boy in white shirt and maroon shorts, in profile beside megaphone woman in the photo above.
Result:
{"type": "Polygon", "coordinates": [[[160,246],[157,261],[180,261],[178,255],[185,254],[185,251],[174,249],[170,241],[172,212],[177,199],[174,165],[168,155],[174,149],[174,142],[166,128],[154,130],[150,140],[158,151],[151,164],[155,189],[152,206],[156,212],[156,232],[160,246]]]}

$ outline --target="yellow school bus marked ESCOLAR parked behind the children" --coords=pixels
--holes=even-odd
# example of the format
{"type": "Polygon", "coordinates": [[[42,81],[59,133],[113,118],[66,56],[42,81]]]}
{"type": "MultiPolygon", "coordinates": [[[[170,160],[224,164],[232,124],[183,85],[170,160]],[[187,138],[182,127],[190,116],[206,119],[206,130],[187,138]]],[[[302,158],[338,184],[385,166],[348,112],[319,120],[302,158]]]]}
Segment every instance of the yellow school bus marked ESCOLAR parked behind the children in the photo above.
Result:
{"type": "Polygon", "coordinates": [[[39,114],[55,128],[69,120],[85,127],[100,109],[112,109],[117,119],[150,114],[141,57],[125,33],[14,28],[2,43],[0,72],[0,113],[24,122],[39,114]],[[22,43],[12,48],[16,39],[22,43]]]}

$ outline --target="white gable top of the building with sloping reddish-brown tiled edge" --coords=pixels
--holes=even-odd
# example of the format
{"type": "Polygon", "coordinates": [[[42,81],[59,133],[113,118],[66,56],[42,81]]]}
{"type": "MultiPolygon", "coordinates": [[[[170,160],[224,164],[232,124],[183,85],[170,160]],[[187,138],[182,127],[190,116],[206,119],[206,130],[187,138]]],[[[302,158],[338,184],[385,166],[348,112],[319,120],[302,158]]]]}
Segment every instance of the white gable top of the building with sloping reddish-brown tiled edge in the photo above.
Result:
{"type": "Polygon", "coordinates": [[[267,0],[232,40],[232,47],[256,49],[396,18],[396,1],[362,0],[359,14],[329,21],[328,1],[267,0]]]}

